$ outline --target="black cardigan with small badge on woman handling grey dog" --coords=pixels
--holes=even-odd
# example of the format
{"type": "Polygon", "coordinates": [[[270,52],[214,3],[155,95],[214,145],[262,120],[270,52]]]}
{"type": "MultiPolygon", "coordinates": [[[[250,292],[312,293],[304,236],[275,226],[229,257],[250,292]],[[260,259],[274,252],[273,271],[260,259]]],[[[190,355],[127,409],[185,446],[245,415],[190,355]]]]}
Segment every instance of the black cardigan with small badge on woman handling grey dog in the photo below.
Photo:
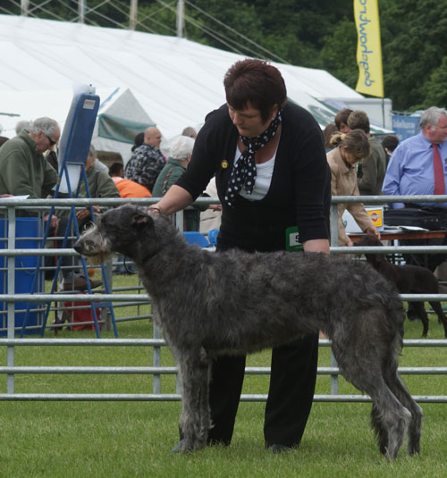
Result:
{"type": "MultiPolygon", "coordinates": [[[[209,113],[177,185],[196,199],[215,175],[223,202],[238,137],[226,105],[209,113]]],[[[220,233],[236,243],[249,243],[256,242],[259,234],[283,237],[285,228],[298,225],[301,242],[328,239],[330,201],[331,172],[321,129],[308,111],[288,103],[266,197],[250,201],[238,196],[234,207],[223,203],[220,233]]]]}

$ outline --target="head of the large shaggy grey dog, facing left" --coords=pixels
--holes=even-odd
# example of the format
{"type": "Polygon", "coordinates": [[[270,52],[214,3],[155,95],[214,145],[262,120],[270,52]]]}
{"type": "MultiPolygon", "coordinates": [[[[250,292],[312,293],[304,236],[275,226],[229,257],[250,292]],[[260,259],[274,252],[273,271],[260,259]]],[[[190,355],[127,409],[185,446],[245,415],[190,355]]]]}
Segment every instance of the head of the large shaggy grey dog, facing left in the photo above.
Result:
{"type": "MultiPolygon", "coordinates": [[[[135,258],[139,243],[150,243],[155,236],[154,217],[136,205],[122,205],[97,216],[97,222],[85,231],[73,248],[92,264],[103,264],[118,252],[135,258]]],[[[154,241],[152,241],[154,242],[154,241]]]]}

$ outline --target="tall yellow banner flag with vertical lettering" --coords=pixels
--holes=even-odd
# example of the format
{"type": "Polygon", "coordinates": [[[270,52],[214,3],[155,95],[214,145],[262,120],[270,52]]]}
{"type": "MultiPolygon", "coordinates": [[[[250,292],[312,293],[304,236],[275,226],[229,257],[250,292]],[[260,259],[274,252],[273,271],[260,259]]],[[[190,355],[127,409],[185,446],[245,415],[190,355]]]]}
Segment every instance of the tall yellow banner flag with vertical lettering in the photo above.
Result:
{"type": "Polygon", "coordinates": [[[358,33],[356,91],[383,98],[384,76],[377,0],[354,0],[354,18],[358,33]]]}

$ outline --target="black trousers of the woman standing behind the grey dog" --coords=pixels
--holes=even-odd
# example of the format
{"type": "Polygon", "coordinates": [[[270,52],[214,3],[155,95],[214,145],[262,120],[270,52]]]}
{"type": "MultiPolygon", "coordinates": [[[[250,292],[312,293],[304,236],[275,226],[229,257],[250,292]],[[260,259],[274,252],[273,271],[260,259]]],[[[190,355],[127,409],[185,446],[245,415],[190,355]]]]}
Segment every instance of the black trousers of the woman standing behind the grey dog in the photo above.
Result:
{"type": "MultiPolygon", "coordinates": [[[[217,250],[235,247],[218,237],[217,250]]],[[[283,248],[278,244],[240,247],[249,252],[283,248]]],[[[299,254],[299,253],[291,253],[299,254]]],[[[298,446],[308,423],[316,385],[318,336],[309,335],[272,351],[270,387],[266,403],[264,437],[266,446],[298,446]]],[[[208,433],[210,443],[229,445],[240,401],[245,371],[245,356],[222,356],[213,362],[209,404],[214,424],[208,433]]]]}

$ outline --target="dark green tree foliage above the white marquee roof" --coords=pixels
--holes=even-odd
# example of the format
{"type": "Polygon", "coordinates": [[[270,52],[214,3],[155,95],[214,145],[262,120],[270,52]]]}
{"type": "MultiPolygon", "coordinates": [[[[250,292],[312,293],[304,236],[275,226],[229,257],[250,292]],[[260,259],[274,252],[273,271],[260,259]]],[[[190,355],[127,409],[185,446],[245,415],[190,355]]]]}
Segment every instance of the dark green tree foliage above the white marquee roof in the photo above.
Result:
{"type": "MultiPolygon", "coordinates": [[[[12,2],[16,12],[17,2],[12,2]]],[[[351,88],[358,80],[352,1],[184,0],[184,36],[274,61],[322,68],[351,88]]],[[[86,0],[86,22],[129,25],[130,0],[86,0]]],[[[176,34],[175,0],[139,0],[138,29],[176,34]]],[[[447,106],[447,0],[378,0],[384,92],[394,109],[447,106]]],[[[41,18],[76,21],[78,1],[43,3],[41,18]]]]}

